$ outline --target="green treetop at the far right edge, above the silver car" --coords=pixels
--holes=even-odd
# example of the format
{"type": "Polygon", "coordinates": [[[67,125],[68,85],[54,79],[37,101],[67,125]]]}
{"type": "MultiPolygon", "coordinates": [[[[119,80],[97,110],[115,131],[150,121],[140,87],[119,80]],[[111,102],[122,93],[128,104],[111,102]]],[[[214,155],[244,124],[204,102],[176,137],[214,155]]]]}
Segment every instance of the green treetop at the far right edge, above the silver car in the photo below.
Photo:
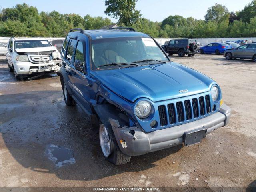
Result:
{"type": "Polygon", "coordinates": [[[251,18],[256,16],[256,0],[250,2],[244,7],[242,11],[238,13],[238,18],[242,19],[243,22],[249,23],[251,18]]]}

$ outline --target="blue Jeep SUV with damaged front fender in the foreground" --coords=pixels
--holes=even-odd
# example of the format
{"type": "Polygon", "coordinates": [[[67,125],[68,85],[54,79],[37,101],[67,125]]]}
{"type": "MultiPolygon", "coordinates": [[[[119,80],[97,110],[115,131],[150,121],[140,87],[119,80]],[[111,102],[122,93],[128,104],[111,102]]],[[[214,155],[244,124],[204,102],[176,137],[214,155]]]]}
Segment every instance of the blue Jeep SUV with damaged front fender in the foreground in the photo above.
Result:
{"type": "Polygon", "coordinates": [[[61,64],[65,103],[90,116],[102,153],[116,165],[199,143],[230,119],[214,80],[172,62],[153,38],[132,28],[70,30],[61,64]]]}

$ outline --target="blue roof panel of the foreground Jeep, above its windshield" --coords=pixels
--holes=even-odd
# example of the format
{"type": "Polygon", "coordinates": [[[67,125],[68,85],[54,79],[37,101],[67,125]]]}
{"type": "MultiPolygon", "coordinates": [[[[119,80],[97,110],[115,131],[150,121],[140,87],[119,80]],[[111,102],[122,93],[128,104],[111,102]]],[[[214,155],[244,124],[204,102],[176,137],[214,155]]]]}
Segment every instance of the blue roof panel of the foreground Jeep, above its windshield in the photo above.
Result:
{"type": "Polygon", "coordinates": [[[94,39],[102,39],[102,38],[116,38],[116,37],[148,37],[147,34],[136,32],[136,31],[129,31],[129,30],[84,30],[84,34],[90,36],[92,40],[94,39]]]}

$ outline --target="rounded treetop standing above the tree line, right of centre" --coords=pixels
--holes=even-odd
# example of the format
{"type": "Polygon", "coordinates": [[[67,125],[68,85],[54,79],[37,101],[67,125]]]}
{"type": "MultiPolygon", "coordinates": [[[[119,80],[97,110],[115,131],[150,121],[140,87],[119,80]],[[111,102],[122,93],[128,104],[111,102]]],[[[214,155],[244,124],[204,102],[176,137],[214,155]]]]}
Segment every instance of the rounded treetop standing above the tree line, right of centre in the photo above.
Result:
{"type": "Polygon", "coordinates": [[[223,20],[228,19],[230,13],[228,8],[224,5],[216,3],[214,6],[208,8],[206,15],[204,16],[206,22],[208,21],[216,21],[222,22],[223,20]]]}

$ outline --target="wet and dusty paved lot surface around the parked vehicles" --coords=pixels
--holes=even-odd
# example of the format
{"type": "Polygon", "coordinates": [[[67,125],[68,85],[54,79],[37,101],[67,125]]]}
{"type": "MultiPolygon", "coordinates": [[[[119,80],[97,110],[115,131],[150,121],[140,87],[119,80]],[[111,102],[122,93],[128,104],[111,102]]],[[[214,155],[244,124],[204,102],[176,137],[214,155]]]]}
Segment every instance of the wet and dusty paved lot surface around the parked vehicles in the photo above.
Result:
{"type": "Polygon", "coordinates": [[[252,186],[256,180],[256,63],[222,55],[171,58],[220,84],[230,123],[190,147],[105,160],[80,107],[64,103],[60,79],[16,82],[0,56],[0,186],[252,186]]]}

